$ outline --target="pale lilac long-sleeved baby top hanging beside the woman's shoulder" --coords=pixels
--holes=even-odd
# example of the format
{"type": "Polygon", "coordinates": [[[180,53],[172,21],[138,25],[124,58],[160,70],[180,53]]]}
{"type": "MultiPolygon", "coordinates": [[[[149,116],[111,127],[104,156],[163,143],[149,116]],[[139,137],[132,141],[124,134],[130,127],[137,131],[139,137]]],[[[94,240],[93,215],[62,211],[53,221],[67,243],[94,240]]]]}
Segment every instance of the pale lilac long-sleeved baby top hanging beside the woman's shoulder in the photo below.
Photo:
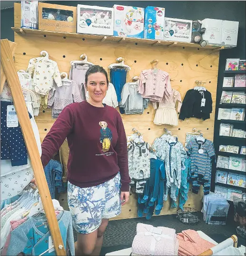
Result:
{"type": "Polygon", "coordinates": [[[61,80],[62,86],[56,85],[49,91],[48,108],[52,108],[52,117],[57,118],[63,108],[74,102],[81,102],[79,86],[74,80],[61,80]]]}

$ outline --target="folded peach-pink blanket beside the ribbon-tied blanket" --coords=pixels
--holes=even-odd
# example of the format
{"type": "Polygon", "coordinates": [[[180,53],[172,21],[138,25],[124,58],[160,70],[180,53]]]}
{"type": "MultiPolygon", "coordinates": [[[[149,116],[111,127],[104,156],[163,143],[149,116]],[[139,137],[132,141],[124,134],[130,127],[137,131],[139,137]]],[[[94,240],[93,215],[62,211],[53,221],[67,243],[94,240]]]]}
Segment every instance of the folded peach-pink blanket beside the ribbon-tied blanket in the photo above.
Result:
{"type": "Polygon", "coordinates": [[[179,256],[196,256],[215,246],[201,238],[197,231],[192,229],[187,229],[182,231],[182,233],[178,233],[177,239],[179,240],[179,256]]]}

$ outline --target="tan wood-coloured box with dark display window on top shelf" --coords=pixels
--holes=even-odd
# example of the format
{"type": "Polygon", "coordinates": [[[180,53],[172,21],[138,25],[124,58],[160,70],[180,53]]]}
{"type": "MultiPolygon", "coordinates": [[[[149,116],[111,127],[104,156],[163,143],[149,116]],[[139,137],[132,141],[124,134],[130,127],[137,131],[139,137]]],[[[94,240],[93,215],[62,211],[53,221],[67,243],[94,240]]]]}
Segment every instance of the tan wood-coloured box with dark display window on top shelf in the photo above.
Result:
{"type": "Polygon", "coordinates": [[[76,33],[77,8],[39,2],[39,30],[76,33]]]}

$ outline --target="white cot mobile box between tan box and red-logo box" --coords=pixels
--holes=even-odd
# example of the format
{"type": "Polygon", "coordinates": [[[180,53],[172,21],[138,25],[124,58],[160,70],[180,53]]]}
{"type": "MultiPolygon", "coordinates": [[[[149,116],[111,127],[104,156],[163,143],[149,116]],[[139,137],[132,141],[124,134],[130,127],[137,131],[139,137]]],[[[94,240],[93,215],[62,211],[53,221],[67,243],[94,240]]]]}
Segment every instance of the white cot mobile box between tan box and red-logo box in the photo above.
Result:
{"type": "Polygon", "coordinates": [[[77,33],[113,35],[113,8],[78,4],[77,33]]]}

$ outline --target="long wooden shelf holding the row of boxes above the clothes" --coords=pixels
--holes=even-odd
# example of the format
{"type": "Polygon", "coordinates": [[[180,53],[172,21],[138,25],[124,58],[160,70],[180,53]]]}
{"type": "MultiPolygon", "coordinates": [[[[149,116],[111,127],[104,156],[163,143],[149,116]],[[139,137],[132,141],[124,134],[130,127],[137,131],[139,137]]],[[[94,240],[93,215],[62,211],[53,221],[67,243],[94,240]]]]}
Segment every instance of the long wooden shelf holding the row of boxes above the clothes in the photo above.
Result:
{"type": "Polygon", "coordinates": [[[166,47],[191,47],[191,48],[199,48],[199,49],[230,49],[233,47],[220,47],[217,45],[206,45],[205,47],[201,47],[199,44],[195,43],[183,43],[183,42],[174,42],[174,41],[163,41],[163,40],[153,40],[153,39],[138,39],[138,38],[122,38],[122,37],[114,37],[114,36],[106,36],[104,35],[89,35],[89,34],[78,34],[78,33],[65,33],[65,32],[57,32],[57,31],[48,31],[48,30],[31,30],[31,29],[21,29],[21,28],[11,28],[16,33],[22,36],[26,36],[26,34],[40,35],[40,36],[57,36],[57,37],[69,37],[69,38],[79,38],[82,40],[85,39],[93,39],[93,40],[101,40],[104,42],[118,42],[118,43],[143,43],[143,44],[151,44],[153,46],[161,45],[166,47]]]}

